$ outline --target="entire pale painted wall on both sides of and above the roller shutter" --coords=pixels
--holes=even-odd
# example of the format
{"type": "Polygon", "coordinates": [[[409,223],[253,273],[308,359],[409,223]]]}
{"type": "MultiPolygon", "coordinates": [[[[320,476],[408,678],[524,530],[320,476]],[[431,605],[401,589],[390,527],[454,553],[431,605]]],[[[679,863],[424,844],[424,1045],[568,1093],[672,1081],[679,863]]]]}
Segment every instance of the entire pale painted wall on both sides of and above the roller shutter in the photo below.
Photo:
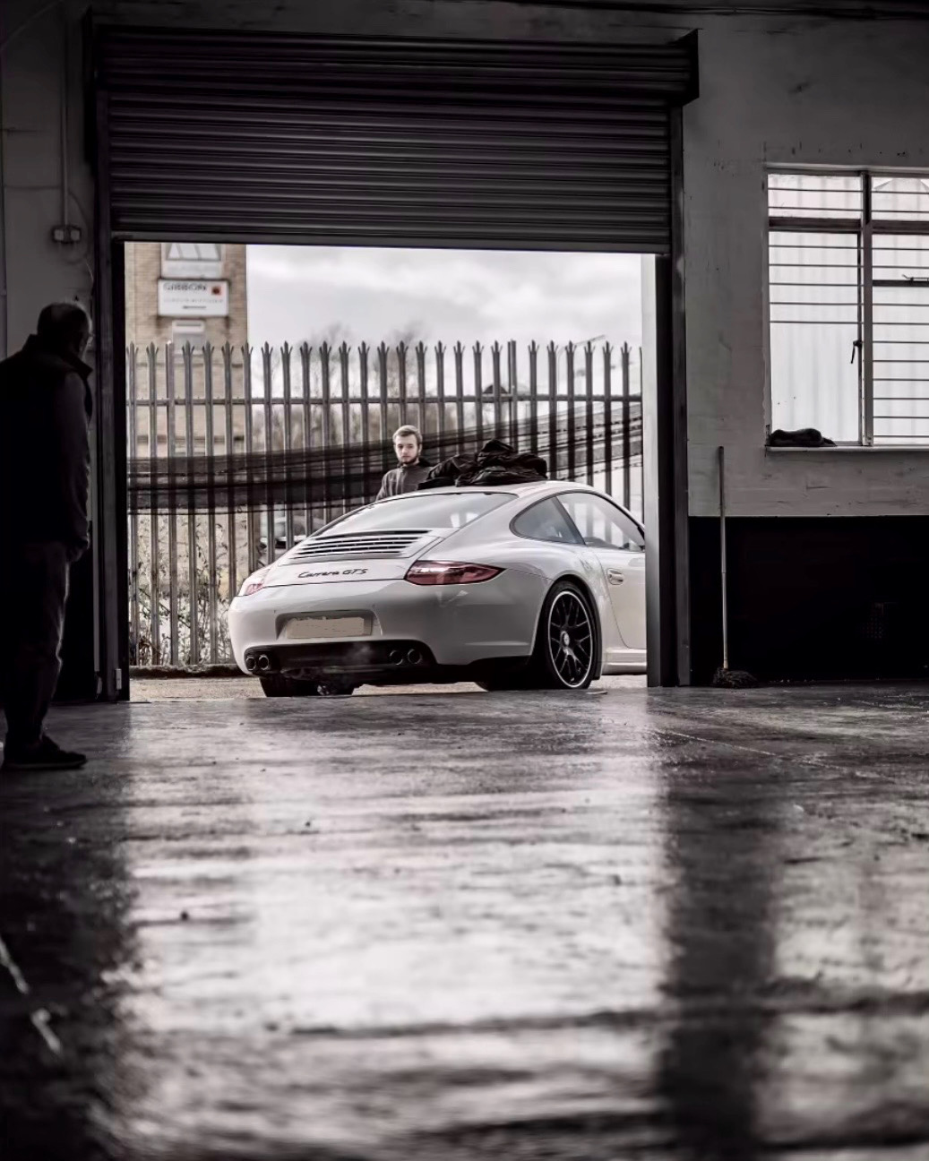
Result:
{"type": "MultiPolygon", "coordinates": [[[[82,255],[49,239],[60,216],[63,14],[72,28],[71,188],[86,217],[93,208],[77,35],[85,7],[80,0],[2,5],[10,349],[50,297],[86,300],[91,290],[82,255]]],[[[736,514],[929,512],[927,453],[765,454],[763,183],[765,165],[775,163],[929,168],[929,22],[687,19],[492,0],[102,0],[94,8],[136,24],[595,42],[670,39],[699,27],[701,95],[684,115],[691,512],[715,512],[720,442],[736,514]]]]}

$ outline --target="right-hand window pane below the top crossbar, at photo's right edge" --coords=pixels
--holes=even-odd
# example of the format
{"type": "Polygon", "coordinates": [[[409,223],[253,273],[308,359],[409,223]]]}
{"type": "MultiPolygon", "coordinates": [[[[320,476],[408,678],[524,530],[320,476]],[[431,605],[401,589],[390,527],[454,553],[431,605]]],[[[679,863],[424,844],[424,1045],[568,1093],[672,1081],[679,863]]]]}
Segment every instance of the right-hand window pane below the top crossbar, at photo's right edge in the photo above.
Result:
{"type": "Polygon", "coordinates": [[[874,442],[929,445],[929,237],[874,235],[874,442]]]}

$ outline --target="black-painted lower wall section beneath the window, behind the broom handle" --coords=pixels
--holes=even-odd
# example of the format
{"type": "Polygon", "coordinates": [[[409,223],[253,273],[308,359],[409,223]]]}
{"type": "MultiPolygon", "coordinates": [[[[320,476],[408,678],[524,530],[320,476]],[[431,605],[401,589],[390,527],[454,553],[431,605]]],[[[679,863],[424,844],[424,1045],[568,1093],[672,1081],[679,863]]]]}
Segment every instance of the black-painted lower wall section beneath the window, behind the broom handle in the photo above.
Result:
{"type": "MultiPolygon", "coordinates": [[[[765,680],[929,677],[929,517],[730,519],[729,663],[765,680]]],[[[691,518],[692,678],[721,661],[719,521],[691,518]]]]}

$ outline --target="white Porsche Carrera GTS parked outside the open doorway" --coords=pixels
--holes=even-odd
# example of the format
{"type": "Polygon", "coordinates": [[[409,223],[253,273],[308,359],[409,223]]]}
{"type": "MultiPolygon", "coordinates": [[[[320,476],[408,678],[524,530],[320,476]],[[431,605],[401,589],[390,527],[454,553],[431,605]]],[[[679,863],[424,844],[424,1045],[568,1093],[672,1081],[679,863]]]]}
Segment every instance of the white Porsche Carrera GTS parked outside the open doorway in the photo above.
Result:
{"type": "Polygon", "coordinates": [[[268,697],[365,684],[583,690],[646,669],[644,534],[559,481],[369,504],[247,578],[236,663],[268,697]]]}

